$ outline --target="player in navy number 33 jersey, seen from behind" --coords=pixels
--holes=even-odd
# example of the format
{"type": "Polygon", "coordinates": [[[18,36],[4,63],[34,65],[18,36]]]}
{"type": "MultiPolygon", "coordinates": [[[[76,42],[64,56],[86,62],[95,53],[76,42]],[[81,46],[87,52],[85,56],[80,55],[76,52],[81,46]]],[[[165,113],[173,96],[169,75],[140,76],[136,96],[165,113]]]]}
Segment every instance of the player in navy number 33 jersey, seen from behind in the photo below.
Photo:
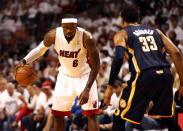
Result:
{"type": "Polygon", "coordinates": [[[114,81],[125,54],[131,78],[114,114],[112,130],[125,131],[125,121],[140,124],[149,102],[153,101],[148,115],[152,118],[161,117],[169,131],[180,131],[173,118],[173,76],[163,49],[171,55],[179,74],[179,98],[183,95],[183,55],[160,30],[139,25],[138,18],[135,8],[125,8],[121,13],[123,29],[114,36],[116,50],[104,103],[110,105],[114,81]]]}

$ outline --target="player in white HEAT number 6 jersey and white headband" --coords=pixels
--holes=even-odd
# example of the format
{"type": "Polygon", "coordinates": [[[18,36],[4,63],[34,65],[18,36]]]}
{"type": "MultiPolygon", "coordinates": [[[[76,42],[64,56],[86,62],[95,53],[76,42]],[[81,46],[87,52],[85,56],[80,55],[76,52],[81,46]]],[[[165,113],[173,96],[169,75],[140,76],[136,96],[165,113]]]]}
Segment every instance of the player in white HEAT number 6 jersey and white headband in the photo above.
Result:
{"type": "Polygon", "coordinates": [[[91,34],[77,27],[77,19],[69,14],[62,19],[61,27],[49,31],[44,40],[23,60],[29,64],[42,56],[53,44],[61,66],[53,97],[52,114],[54,131],[64,131],[64,116],[71,114],[72,103],[79,96],[83,115],[88,116],[88,130],[99,131],[98,93],[96,76],[99,54],[91,34]],[[90,60],[89,65],[88,59],[90,60]]]}

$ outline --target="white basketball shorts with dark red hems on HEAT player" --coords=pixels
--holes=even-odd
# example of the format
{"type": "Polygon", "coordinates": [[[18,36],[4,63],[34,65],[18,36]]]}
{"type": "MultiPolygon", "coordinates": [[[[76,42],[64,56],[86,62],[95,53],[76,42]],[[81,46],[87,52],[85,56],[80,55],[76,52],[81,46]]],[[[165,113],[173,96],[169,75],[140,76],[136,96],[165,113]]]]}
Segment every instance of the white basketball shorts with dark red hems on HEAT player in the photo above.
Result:
{"type": "MultiPolygon", "coordinates": [[[[59,73],[53,95],[52,114],[56,116],[68,116],[71,114],[72,104],[86,87],[89,74],[81,77],[69,77],[59,73]]],[[[94,81],[90,92],[88,103],[81,106],[83,115],[98,114],[98,92],[97,83],[94,81]]]]}

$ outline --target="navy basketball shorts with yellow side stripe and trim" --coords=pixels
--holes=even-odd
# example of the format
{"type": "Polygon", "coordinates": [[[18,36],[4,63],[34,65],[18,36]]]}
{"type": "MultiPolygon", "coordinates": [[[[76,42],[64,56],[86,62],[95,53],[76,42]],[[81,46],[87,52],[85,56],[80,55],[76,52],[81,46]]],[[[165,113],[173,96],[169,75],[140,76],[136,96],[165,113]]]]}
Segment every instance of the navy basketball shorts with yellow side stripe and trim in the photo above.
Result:
{"type": "Polygon", "coordinates": [[[172,117],[173,76],[167,67],[147,69],[132,74],[123,90],[115,116],[140,124],[147,113],[151,117],[172,117]],[[153,106],[147,112],[152,101],[153,106]]]}

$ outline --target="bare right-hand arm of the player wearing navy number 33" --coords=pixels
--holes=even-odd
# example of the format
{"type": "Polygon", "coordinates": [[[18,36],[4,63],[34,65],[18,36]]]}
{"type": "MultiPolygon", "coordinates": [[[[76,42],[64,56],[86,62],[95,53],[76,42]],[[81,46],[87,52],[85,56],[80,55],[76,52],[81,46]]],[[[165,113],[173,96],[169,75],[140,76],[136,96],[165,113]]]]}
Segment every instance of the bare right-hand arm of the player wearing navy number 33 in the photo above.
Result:
{"type": "Polygon", "coordinates": [[[176,70],[179,74],[180,79],[179,99],[180,99],[180,97],[183,96],[183,54],[168,37],[166,37],[160,30],[158,30],[158,32],[162,37],[166,51],[172,56],[176,70]]]}

